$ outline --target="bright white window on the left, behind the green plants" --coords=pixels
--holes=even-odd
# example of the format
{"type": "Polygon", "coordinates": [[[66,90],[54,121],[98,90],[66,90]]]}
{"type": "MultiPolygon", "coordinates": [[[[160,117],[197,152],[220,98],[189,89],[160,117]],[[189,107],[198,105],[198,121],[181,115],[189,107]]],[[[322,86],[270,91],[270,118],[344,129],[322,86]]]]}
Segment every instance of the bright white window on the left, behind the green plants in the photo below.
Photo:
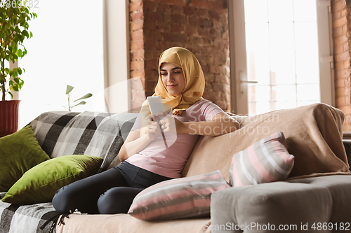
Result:
{"type": "Polygon", "coordinates": [[[32,11],[38,15],[29,22],[33,37],[18,62],[26,71],[20,127],[45,111],[65,111],[67,85],[75,87],[72,100],[88,92],[100,98],[87,99],[74,111],[104,111],[102,0],[39,1],[32,11]]]}

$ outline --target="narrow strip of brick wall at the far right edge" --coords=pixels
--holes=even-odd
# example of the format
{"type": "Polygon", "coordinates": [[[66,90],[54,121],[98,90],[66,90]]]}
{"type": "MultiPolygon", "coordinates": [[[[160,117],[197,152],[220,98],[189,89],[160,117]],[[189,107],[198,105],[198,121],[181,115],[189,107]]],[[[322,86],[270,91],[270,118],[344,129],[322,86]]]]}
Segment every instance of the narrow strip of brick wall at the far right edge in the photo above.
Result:
{"type": "Polygon", "coordinates": [[[351,1],[332,0],[336,108],[345,113],[344,131],[351,131],[350,32],[351,1]],[[350,3],[349,3],[350,2],[350,3]]]}

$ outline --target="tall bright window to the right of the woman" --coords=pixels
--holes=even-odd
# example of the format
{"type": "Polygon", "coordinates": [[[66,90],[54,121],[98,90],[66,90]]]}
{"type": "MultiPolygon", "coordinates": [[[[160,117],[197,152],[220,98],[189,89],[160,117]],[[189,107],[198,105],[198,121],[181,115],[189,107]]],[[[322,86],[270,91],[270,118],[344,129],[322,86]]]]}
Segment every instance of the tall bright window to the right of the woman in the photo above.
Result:
{"type": "Polygon", "coordinates": [[[330,62],[329,56],[324,56],[325,50],[330,55],[330,44],[319,40],[325,31],[329,32],[327,3],[330,2],[234,1],[230,7],[233,13],[244,12],[232,15],[234,29],[230,27],[234,47],[231,56],[235,61],[232,71],[234,78],[239,78],[233,89],[239,92],[237,113],[257,115],[320,101],[332,104],[330,64],[326,64],[329,71],[321,72],[325,69],[322,62],[330,62]],[[325,86],[328,93],[323,92],[322,96],[321,88],[325,86]]]}

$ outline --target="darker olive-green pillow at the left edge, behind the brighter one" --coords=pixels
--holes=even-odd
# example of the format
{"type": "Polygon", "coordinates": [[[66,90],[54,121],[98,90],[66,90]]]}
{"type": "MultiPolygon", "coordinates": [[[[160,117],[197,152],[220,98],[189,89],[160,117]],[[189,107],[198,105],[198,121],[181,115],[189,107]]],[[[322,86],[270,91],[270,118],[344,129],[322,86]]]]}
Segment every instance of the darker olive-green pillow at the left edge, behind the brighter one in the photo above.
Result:
{"type": "Polygon", "coordinates": [[[46,160],[50,157],[39,146],[32,125],[0,138],[0,192],[6,192],[26,171],[46,160]]]}

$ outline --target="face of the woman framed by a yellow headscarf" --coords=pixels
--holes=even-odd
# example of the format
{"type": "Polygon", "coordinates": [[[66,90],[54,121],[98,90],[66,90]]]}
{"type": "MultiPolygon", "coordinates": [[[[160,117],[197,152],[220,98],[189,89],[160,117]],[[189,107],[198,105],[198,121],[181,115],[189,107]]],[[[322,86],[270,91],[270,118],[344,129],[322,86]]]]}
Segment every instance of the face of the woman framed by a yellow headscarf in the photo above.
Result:
{"type": "Polygon", "coordinates": [[[168,94],[176,96],[183,92],[185,87],[185,78],[183,70],[174,64],[163,63],[161,64],[161,78],[162,83],[168,94]]]}

